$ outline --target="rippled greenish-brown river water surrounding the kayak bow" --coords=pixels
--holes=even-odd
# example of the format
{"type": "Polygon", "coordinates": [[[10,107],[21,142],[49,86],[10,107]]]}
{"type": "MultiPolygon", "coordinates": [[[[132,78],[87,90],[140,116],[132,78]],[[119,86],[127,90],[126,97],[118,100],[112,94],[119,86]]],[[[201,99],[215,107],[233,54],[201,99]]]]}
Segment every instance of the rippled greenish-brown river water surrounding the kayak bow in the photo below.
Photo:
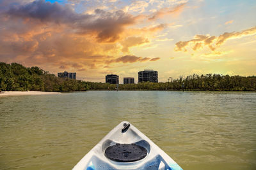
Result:
{"type": "Polygon", "coordinates": [[[127,120],[183,169],[256,169],[256,93],[0,97],[0,169],[72,169],[127,120]]]}

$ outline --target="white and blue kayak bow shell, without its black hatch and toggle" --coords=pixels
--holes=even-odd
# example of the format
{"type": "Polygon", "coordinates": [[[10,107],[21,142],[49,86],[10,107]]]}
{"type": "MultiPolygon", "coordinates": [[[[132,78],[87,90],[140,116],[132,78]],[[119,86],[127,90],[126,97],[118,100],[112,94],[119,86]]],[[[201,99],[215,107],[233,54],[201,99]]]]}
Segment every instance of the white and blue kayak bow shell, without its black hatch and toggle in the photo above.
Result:
{"type": "Polygon", "coordinates": [[[147,138],[136,127],[130,124],[127,131],[122,132],[124,124],[128,122],[121,122],[112,131],[110,131],[96,146],[90,150],[73,168],[78,169],[182,169],[171,157],[169,157],[163,150],[147,138]],[[147,156],[141,160],[132,162],[117,162],[108,159],[105,151],[109,146],[116,144],[134,144],[143,147],[147,150],[147,156]]]}

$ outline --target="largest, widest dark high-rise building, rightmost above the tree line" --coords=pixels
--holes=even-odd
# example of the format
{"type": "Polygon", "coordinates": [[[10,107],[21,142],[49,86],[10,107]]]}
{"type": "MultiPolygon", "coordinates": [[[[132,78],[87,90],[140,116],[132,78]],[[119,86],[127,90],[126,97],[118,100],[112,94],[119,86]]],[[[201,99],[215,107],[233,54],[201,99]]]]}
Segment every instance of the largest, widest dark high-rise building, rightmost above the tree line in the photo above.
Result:
{"type": "Polygon", "coordinates": [[[138,82],[150,81],[158,83],[158,73],[152,69],[145,69],[144,71],[139,71],[138,73],[138,82]]]}

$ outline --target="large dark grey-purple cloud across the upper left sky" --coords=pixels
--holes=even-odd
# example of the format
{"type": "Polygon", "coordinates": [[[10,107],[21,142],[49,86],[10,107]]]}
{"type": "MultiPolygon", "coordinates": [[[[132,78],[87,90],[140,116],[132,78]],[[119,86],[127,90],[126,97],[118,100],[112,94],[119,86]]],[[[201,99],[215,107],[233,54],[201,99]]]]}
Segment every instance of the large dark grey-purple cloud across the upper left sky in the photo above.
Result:
{"type": "Polygon", "coordinates": [[[34,1],[22,6],[15,6],[6,11],[10,18],[22,18],[25,21],[34,20],[45,23],[65,24],[78,34],[94,35],[99,42],[113,43],[120,39],[125,26],[136,23],[133,15],[118,11],[95,10],[95,14],[79,14],[70,6],[49,3],[44,0],[34,1]]]}

